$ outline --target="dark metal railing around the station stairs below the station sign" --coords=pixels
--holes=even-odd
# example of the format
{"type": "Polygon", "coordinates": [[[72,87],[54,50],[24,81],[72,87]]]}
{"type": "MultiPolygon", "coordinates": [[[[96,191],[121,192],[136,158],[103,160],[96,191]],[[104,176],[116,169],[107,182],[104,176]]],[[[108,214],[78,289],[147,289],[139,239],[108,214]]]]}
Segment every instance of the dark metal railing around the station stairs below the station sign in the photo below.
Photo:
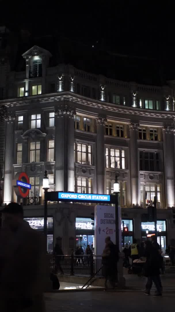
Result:
{"type": "Polygon", "coordinates": [[[94,255],[64,255],[50,258],[55,273],[85,276],[103,276],[102,258],[94,255]]]}

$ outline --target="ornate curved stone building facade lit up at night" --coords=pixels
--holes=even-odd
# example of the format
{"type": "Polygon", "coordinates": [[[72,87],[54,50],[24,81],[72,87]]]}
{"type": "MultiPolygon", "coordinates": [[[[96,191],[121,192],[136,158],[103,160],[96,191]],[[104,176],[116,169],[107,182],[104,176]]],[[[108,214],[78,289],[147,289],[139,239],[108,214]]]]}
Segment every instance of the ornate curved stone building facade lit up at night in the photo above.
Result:
{"type": "MultiPolygon", "coordinates": [[[[25,218],[43,230],[43,177],[49,191],[113,193],[117,175],[125,242],[154,232],[147,206],[157,197],[159,242],[165,248],[175,224],[175,81],[165,86],[109,79],[60,64],[33,46],[21,58],[26,70],[0,63],[0,173],[3,204],[20,202],[13,179],[25,172],[32,185],[25,218]]],[[[94,205],[48,202],[48,249],[56,238],[65,254],[94,246],[94,205]]]]}

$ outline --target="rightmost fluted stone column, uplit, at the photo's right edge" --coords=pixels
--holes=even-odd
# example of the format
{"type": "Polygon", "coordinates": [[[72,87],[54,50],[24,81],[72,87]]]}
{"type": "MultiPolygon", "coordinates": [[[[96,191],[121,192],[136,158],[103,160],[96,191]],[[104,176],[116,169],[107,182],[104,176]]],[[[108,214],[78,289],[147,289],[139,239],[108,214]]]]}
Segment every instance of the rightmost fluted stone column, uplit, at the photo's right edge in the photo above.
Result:
{"type": "Polygon", "coordinates": [[[172,126],[165,125],[163,127],[163,154],[164,154],[164,168],[165,168],[165,205],[166,207],[175,206],[173,132],[174,132],[174,128],[172,126]]]}

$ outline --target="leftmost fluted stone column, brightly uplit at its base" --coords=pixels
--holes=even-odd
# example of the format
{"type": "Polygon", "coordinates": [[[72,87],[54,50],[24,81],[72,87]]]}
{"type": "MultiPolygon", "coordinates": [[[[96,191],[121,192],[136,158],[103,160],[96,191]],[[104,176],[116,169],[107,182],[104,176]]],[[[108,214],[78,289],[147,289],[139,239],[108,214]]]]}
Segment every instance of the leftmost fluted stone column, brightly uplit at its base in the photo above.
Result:
{"type": "Polygon", "coordinates": [[[6,115],[4,119],[6,125],[6,149],[5,149],[5,169],[4,169],[4,203],[12,201],[12,164],[13,164],[13,133],[15,115],[6,115]]]}

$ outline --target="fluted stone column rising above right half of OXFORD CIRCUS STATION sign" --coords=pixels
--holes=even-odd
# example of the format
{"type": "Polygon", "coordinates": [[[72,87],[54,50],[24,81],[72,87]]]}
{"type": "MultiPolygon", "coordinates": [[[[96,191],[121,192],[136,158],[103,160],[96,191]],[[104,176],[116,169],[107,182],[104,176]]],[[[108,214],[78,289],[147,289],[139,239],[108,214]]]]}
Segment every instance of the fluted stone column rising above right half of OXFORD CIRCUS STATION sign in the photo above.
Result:
{"type": "Polygon", "coordinates": [[[107,119],[97,118],[97,193],[105,194],[105,150],[104,150],[104,131],[107,119]]]}

